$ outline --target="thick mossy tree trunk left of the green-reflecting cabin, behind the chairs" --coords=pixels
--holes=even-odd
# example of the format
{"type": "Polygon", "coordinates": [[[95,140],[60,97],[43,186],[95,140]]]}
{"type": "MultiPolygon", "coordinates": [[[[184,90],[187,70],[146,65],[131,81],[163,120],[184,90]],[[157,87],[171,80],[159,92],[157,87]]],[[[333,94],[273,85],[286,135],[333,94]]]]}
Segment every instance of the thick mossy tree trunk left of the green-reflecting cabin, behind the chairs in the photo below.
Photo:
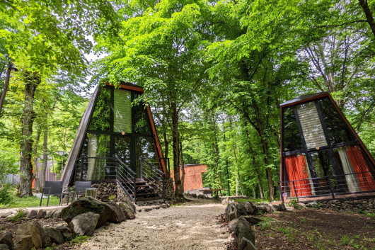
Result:
{"type": "Polygon", "coordinates": [[[38,73],[24,72],[23,79],[25,81],[25,97],[23,114],[21,118],[22,132],[20,145],[20,194],[23,196],[33,195],[31,191],[31,183],[33,182],[33,123],[35,113],[33,111],[34,95],[37,86],[40,84],[40,75],[38,73]]]}

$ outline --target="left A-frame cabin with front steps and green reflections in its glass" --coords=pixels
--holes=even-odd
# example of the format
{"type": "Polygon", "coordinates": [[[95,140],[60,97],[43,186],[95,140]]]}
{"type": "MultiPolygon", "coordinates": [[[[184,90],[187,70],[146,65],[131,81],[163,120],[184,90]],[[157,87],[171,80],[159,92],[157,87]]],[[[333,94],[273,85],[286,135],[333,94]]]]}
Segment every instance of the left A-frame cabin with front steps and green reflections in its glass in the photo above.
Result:
{"type": "Polygon", "coordinates": [[[113,182],[134,202],[164,197],[169,167],[149,106],[134,102],[142,93],[134,84],[98,86],[81,118],[63,186],[113,182]]]}

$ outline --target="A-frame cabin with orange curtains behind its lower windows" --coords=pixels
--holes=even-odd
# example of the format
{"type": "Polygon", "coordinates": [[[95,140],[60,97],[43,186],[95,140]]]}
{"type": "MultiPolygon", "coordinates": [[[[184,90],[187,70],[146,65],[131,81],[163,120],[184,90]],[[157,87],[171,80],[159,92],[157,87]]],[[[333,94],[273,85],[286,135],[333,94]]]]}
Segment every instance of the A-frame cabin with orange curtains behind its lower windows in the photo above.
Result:
{"type": "Polygon", "coordinates": [[[280,106],[282,198],[355,198],[375,191],[374,158],[328,92],[280,106]]]}

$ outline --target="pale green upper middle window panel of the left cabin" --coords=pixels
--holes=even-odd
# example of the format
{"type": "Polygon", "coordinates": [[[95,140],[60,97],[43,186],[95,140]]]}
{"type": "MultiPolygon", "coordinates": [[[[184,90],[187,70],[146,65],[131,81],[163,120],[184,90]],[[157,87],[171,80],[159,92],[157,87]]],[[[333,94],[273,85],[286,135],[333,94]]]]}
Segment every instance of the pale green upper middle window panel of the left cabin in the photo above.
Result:
{"type": "Polygon", "coordinates": [[[113,132],[132,133],[132,93],[115,89],[113,102],[113,132]]]}

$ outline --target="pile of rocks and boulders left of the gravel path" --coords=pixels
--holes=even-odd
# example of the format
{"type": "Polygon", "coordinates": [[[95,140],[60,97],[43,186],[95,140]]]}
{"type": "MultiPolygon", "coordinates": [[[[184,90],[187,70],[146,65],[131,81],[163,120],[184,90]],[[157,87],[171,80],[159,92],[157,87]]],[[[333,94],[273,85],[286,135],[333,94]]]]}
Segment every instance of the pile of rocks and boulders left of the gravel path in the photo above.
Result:
{"type": "Polygon", "coordinates": [[[94,229],[105,222],[120,223],[126,219],[135,218],[135,206],[132,203],[115,202],[103,203],[92,197],[83,197],[71,203],[63,210],[48,211],[30,210],[28,217],[62,217],[67,226],[43,228],[37,222],[25,222],[18,225],[16,237],[11,233],[0,234],[0,250],[30,250],[40,249],[52,244],[62,244],[70,241],[76,235],[92,235],[94,229]]]}

